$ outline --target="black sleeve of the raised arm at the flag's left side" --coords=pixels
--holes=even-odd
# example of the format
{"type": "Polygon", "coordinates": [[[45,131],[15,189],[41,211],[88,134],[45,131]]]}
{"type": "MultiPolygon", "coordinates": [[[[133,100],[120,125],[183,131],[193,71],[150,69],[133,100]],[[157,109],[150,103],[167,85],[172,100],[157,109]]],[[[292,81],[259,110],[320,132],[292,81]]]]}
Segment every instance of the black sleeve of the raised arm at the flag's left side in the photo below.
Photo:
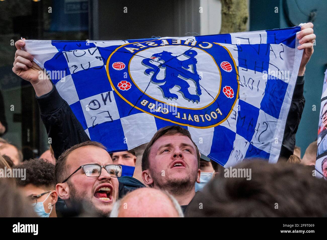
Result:
{"type": "Polygon", "coordinates": [[[90,140],[54,85],[50,92],[40,97],[36,96],[36,99],[46,132],[48,137],[51,137],[51,146],[56,159],[70,147],[90,140]]]}

